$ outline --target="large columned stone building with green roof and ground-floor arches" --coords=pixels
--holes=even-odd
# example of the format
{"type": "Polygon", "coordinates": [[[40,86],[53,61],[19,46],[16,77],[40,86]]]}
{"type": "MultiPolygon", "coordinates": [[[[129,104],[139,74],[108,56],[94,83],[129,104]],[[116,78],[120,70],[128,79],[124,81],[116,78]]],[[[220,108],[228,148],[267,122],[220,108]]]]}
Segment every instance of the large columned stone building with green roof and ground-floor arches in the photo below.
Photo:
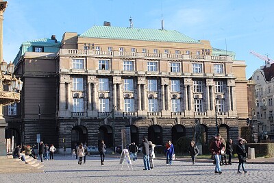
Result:
{"type": "MultiPolygon", "coordinates": [[[[112,147],[121,143],[121,127],[130,127],[133,142],[146,136],[164,145],[192,138],[195,119],[207,144],[216,113],[225,138],[236,140],[246,124],[245,61],[208,40],[166,29],[93,26],[83,34],[66,32],[55,44],[59,51],[44,47],[14,60],[24,82],[17,131],[26,144],[41,134],[66,151],[100,139],[112,147]]],[[[9,128],[14,123],[10,118],[9,128]]]]}

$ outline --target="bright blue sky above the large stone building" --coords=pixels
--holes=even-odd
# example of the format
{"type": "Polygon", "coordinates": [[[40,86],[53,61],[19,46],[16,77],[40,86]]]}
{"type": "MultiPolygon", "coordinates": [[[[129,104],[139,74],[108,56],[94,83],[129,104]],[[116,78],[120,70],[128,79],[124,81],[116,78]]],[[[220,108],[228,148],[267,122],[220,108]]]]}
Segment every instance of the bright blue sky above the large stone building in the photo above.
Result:
{"type": "Polygon", "coordinates": [[[176,29],[245,60],[247,79],[264,64],[254,50],[274,60],[273,0],[10,0],[4,13],[3,58],[14,60],[22,42],[64,32],[82,34],[93,25],[176,29]]]}

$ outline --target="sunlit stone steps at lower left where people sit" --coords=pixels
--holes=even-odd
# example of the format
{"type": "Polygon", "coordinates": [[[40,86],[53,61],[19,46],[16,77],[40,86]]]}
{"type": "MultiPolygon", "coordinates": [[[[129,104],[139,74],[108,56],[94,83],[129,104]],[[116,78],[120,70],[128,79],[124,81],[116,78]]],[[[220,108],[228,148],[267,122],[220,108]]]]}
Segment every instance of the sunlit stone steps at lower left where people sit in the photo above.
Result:
{"type": "Polygon", "coordinates": [[[0,173],[40,173],[44,164],[30,156],[25,156],[25,162],[12,156],[0,156],[0,173]]]}

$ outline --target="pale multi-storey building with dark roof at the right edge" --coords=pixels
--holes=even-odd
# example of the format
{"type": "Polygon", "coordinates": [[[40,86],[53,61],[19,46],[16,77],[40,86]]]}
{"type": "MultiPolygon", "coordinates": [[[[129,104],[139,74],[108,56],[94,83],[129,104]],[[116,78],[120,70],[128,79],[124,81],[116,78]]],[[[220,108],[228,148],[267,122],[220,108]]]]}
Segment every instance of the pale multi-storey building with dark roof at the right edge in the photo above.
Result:
{"type": "Polygon", "coordinates": [[[274,141],[274,64],[261,66],[254,71],[251,78],[256,83],[254,128],[258,132],[258,140],[268,136],[270,141],[274,141]]]}

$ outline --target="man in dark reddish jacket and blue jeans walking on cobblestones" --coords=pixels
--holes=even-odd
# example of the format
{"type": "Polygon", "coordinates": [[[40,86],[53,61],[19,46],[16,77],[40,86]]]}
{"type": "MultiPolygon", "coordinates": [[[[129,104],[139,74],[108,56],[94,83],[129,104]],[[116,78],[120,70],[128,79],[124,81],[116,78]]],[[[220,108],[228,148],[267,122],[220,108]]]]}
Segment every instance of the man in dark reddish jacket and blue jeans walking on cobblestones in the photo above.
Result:
{"type": "Polygon", "coordinates": [[[221,160],[221,149],[223,149],[220,139],[221,139],[220,134],[216,134],[216,136],[214,137],[214,140],[210,144],[210,151],[212,152],[216,160],[215,173],[219,173],[219,174],[222,173],[221,167],[220,167],[220,160],[221,160]]]}

